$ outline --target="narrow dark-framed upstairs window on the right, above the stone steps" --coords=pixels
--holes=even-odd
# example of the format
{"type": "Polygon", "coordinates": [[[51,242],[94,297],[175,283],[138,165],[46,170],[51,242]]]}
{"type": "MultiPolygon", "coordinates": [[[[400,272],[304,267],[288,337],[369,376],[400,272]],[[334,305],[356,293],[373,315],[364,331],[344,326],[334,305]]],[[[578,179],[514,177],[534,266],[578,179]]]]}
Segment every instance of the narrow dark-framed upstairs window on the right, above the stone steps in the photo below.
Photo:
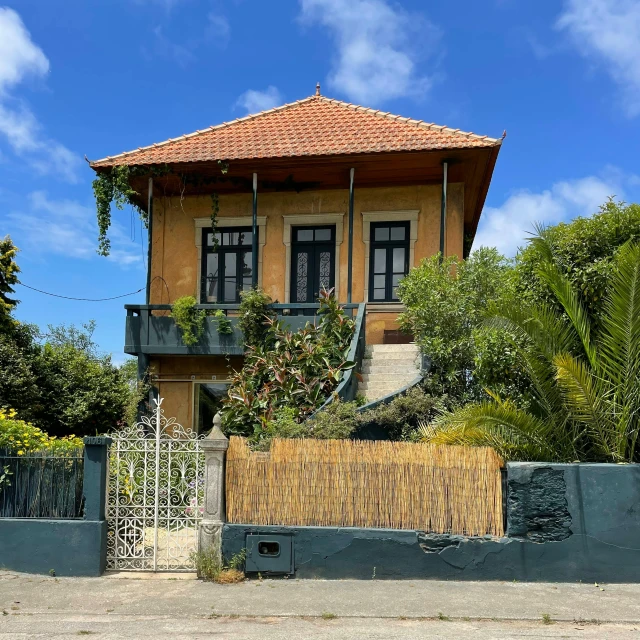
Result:
{"type": "Polygon", "coordinates": [[[372,222],[369,301],[395,302],[409,271],[409,223],[372,222]]]}

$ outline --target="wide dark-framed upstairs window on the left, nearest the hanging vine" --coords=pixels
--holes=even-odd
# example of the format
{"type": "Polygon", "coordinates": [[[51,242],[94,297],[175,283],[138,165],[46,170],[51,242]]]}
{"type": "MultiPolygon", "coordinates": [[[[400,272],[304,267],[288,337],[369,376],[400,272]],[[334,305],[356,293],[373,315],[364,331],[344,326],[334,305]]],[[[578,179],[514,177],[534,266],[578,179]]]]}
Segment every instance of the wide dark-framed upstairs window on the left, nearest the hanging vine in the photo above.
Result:
{"type": "Polygon", "coordinates": [[[203,229],[202,234],[200,302],[240,302],[240,292],[250,289],[252,283],[251,227],[219,229],[217,251],[214,251],[211,229],[203,229]]]}

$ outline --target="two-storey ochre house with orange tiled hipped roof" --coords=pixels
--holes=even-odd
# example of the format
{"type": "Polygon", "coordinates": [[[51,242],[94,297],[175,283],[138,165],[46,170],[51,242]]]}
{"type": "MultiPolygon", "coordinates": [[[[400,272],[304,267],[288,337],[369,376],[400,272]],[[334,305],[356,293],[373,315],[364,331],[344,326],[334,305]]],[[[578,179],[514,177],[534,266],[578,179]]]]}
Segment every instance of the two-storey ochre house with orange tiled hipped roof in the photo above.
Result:
{"type": "Polygon", "coordinates": [[[198,345],[182,343],[168,306],[181,296],[233,315],[254,284],[284,304],[333,287],[341,302],[366,303],[367,344],[392,341],[400,279],[438,251],[469,251],[501,143],[333,100],[318,86],[304,100],[92,162],[96,172],[138,168],[130,184],[149,212],[152,308],[127,305],[125,351],[153,373],[167,414],[208,428],[242,363],[237,330],[225,342],[208,324],[198,345]]]}

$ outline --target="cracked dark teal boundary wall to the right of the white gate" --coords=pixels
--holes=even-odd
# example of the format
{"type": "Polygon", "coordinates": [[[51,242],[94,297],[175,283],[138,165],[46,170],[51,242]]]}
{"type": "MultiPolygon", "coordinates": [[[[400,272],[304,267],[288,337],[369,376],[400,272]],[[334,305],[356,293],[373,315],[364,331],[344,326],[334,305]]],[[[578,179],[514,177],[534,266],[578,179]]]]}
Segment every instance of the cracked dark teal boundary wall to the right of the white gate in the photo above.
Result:
{"type": "Polygon", "coordinates": [[[507,535],[225,525],[225,557],[247,533],[290,533],[299,578],[640,582],[640,465],[510,463],[507,535]]]}

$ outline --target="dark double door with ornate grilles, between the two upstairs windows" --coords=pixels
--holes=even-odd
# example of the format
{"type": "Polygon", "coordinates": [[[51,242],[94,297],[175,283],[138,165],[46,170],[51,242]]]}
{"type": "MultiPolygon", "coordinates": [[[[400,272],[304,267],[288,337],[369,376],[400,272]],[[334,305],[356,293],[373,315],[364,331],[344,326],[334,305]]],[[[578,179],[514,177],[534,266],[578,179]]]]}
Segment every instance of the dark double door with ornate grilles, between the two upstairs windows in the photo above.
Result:
{"type": "Polygon", "coordinates": [[[291,302],[318,301],[322,289],[335,285],[336,228],[294,227],[291,251],[291,302]]]}

